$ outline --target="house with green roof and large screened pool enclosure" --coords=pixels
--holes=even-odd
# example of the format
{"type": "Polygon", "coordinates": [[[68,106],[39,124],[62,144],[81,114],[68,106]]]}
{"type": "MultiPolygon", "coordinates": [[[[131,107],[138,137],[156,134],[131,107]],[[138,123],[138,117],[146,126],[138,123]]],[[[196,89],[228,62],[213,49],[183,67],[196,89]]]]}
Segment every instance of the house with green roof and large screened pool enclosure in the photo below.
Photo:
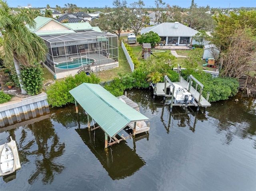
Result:
{"type": "Polygon", "coordinates": [[[80,71],[97,72],[118,67],[118,37],[102,33],[88,22],[60,23],[38,16],[29,30],[44,39],[49,51],[44,65],[56,79],[80,71]]]}

